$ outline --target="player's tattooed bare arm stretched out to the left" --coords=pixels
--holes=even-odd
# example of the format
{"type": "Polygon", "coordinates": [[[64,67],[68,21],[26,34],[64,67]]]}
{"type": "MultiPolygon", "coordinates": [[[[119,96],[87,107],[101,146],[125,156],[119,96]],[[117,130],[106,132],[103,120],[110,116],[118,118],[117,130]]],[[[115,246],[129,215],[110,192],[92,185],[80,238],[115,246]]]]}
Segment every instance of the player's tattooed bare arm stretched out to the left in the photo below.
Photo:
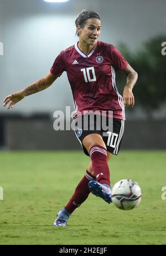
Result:
{"type": "Polygon", "coordinates": [[[5,107],[8,104],[7,108],[13,109],[14,105],[18,101],[24,99],[24,97],[26,96],[45,90],[50,85],[52,85],[52,83],[56,80],[56,78],[58,78],[58,76],[55,76],[51,72],[49,72],[45,77],[35,81],[33,85],[30,85],[21,91],[12,93],[11,95],[8,95],[3,101],[3,106],[5,107]]]}

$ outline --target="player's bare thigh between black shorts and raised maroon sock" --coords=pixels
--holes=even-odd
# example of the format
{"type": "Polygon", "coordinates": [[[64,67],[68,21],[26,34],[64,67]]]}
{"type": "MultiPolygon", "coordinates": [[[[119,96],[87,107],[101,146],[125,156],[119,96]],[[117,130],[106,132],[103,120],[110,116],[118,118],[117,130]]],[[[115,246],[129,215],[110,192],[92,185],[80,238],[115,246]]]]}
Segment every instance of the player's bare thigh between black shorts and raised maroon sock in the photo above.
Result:
{"type": "Polygon", "coordinates": [[[105,147],[106,144],[102,139],[102,136],[100,134],[89,134],[82,140],[82,145],[85,147],[85,149],[89,152],[91,147],[94,145],[105,147]]]}

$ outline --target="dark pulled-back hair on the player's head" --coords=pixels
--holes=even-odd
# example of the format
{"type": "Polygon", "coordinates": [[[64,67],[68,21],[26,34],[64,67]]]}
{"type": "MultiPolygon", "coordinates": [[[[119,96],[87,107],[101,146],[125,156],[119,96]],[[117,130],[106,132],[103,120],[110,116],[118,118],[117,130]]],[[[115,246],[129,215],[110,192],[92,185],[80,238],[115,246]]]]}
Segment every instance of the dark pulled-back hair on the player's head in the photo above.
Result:
{"type": "Polygon", "coordinates": [[[82,10],[81,13],[77,16],[77,18],[75,20],[75,26],[76,26],[76,34],[75,35],[79,36],[79,32],[77,32],[77,26],[80,25],[81,28],[84,28],[86,20],[89,18],[100,19],[100,16],[98,13],[96,13],[94,11],[82,10]]]}

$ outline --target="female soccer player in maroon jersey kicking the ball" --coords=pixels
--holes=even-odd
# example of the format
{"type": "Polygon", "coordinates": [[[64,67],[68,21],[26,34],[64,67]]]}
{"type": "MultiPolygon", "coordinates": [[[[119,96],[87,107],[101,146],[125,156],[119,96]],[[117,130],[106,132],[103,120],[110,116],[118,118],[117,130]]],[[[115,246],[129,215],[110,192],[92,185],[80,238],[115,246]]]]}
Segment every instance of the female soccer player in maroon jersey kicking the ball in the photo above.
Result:
{"type": "Polygon", "coordinates": [[[82,11],[75,24],[79,42],[60,52],[48,75],[4,99],[4,106],[9,104],[8,109],[12,109],[25,96],[48,88],[64,71],[68,75],[75,103],[74,119],[78,121],[84,117],[82,126],[75,133],[91,160],[69,203],[59,211],[55,227],[66,226],[71,213],[87,199],[90,192],[111,203],[108,160],[120,150],[125,122],[124,105],[134,106],[132,89],[138,77],[115,46],[97,41],[101,19],[96,12],[82,11]],[[123,98],[116,87],[116,70],[127,75],[123,98]],[[112,129],[108,126],[107,130],[103,130],[102,122],[98,125],[97,118],[93,121],[94,129],[91,129],[91,118],[84,126],[89,111],[98,111],[99,116],[105,116],[107,124],[112,120],[112,129]]]}

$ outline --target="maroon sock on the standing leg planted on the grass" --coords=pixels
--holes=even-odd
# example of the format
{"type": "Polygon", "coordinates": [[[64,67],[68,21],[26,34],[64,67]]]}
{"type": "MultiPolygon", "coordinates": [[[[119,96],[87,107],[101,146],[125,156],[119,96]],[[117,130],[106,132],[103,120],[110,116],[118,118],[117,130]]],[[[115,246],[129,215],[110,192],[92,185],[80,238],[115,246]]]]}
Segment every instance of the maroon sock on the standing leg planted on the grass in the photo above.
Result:
{"type": "Polygon", "coordinates": [[[77,185],[72,198],[69,203],[65,206],[65,209],[71,214],[77,207],[79,207],[89,196],[89,181],[95,180],[95,176],[91,175],[87,170],[85,176],[80,181],[79,185],[77,185]]]}

